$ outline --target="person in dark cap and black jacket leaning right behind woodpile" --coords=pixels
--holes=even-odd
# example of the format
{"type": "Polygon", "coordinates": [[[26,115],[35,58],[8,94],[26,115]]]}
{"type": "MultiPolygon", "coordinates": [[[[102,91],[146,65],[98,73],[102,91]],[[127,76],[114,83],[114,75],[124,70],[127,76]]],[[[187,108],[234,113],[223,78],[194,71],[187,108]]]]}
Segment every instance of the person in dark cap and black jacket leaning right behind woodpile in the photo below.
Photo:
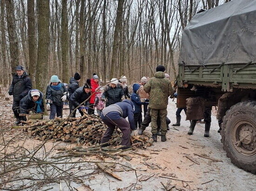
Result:
{"type": "MultiPolygon", "coordinates": [[[[87,100],[90,96],[91,96],[91,89],[87,83],[85,83],[83,87],[76,89],[69,99],[70,114],[74,111],[75,108],[77,108],[82,102],[87,100]]],[[[83,103],[80,108],[78,108],[81,116],[84,115],[84,113],[82,112],[82,109],[88,110],[89,105],[90,105],[90,99],[88,99],[88,101],[83,103]]],[[[75,117],[75,113],[76,111],[74,111],[71,117],[75,117]]]]}

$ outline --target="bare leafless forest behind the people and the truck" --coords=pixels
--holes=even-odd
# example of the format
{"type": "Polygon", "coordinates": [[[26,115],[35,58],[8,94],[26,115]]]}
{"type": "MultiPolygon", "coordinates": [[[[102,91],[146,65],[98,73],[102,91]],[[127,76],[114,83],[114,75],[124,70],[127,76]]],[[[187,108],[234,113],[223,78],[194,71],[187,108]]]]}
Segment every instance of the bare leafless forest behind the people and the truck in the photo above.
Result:
{"type": "Polygon", "coordinates": [[[26,68],[44,92],[50,76],[128,84],[162,64],[174,80],[182,29],[200,9],[230,0],[0,0],[0,85],[26,68]]]}

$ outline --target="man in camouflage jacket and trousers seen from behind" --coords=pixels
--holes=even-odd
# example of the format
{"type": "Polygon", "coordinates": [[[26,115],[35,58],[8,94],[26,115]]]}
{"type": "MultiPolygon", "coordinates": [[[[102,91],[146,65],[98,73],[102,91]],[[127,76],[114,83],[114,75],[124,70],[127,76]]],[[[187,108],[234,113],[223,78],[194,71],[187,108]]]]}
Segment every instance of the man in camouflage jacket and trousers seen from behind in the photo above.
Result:
{"type": "Polygon", "coordinates": [[[157,141],[157,115],[160,116],[161,121],[161,141],[166,141],[168,96],[173,93],[172,85],[165,77],[164,71],[164,66],[157,66],[155,76],[150,78],[144,86],[144,91],[149,93],[148,107],[151,108],[151,133],[154,142],[157,141]]]}

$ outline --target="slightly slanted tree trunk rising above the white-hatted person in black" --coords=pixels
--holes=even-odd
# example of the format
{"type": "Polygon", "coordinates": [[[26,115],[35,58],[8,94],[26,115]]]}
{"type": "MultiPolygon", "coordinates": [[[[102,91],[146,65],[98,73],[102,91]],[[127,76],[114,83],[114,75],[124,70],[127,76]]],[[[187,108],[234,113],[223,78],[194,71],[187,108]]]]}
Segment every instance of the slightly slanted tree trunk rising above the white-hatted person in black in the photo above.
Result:
{"type": "Polygon", "coordinates": [[[113,47],[112,47],[112,59],[111,59],[111,68],[110,68],[110,76],[109,78],[114,77],[115,73],[115,66],[118,62],[118,46],[119,46],[119,30],[122,25],[122,13],[123,13],[123,3],[124,0],[118,0],[117,5],[117,13],[116,13],[116,19],[115,19],[115,32],[114,32],[114,38],[113,38],[113,47]]]}

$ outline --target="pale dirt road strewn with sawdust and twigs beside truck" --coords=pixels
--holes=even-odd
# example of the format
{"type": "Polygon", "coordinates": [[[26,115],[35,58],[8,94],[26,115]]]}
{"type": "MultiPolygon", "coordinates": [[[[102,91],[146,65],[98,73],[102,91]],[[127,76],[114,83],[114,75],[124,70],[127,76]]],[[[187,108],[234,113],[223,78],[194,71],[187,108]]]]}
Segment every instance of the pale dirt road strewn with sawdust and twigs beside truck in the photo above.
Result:
{"type": "MultiPolygon", "coordinates": [[[[14,122],[14,119],[11,119],[11,100],[1,104],[1,107],[3,108],[0,116],[1,120],[6,120],[6,125],[10,126],[14,122]]],[[[171,124],[175,122],[175,112],[175,102],[169,100],[168,117],[171,120],[171,124]]],[[[68,111],[65,111],[65,113],[65,115],[67,115],[68,111]]],[[[214,115],[212,115],[209,138],[203,137],[204,124],[197,124],[193,135],[187,134],[189,121],[185,121],[183,111],[181,126],[175,128],[177,130],[171,127],[168,131],[168,140],[166,142],[161,142],[161,138],[159,137],[159,141],[154,143],[153,146],[147,147],[146,150],[136,149],[135,153],[130,155],[132,157],[130,161],[124,158],[118,160],[105,159],[131,166],[136,169],[136,173],[135,171],[128,171],[127,169],[125,169],[125,171],[120,166],[116,166],[114,172],[122,178],[122,181],[99,171],[98,174],[94,174],[90,176],[90,178],[85,179],[85,184],[89,185],[90,188],[95,191],[115,191],[118,189],[119,191],[134,189],[162,191],[164,190],[163,185],[168,188],[175,186],[179,190],[183,189],[185,191],[255,190],[256,176],[243,171],[243,169],[237,168],[231,163],[230,159],[226,157],[226,153],[223,151],[220,141],[221,136],[217,133],[219,127],[214,115]],[[142,157],[138,154],[148,155],[148,157],[142,157]],[[212,160],[202,158],[202,156],[208,156],[212,160]],[[214,160],[219,160],[219,162],[214,160]],[[172,180],[161,178],[162,175],[172,178],[172,180]],[[143,179],[147,180],[143,181],[143,179]]],[[[19,130],[13,130],[13,134],[17,134],[15,131],[19,130]]],[[[148,127],[146,131],[150,132],[150,127],[148,127]]],[[[12,134],[8,136],[12,136],[12,134]]],[[[16,143],[17,141],[16,139],[16,143]]],[[[39,140],[34,141],[33,138],[29,138],[27,141],[30,141],[27,145],[33,148],[33,144],[38,144],[39,140]]],[[[83,159],[93,160],[89,157],[84,157],[83,159]]],[[[74,182],[70,184],[79,191],[87,190],[74,182]]],[[[52,190],[59,191],[59,185],[50,185],[50,187],[52,186],[54,187],[52,190]]],[[[49,185],[42,189],[47,189],[48,187],[49,185]]],[[[64,183],[62,184],[62,190],[67,190],[64,183]]],[[[172,191],[174,190],[175,188],[172,189],[172,191]]]]}

